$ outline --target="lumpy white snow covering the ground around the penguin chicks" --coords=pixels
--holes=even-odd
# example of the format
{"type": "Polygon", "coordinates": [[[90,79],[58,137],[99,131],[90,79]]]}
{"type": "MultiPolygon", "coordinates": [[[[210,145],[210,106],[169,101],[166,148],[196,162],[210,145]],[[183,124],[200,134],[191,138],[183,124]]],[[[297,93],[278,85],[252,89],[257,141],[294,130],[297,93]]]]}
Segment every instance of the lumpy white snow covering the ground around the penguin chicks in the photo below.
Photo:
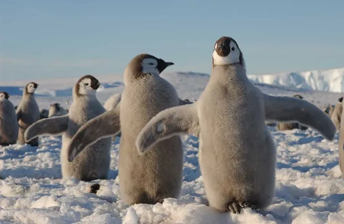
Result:
{"type": "MultiPolygon", "coordinates": [[[[96,75],[95,75],[96,76],[96,75]]],[[[181,98],[195,100],[209,76],[192,72],[164,72],[181,98]]],[[[124,88],[122,75],[96,76],[102,83],[97,97],[104,102],[124,88]]],[[[78,78],[33,80],[39,83],[40,108],[71,101],[78,78]]],[[[26,81],[1,83],[16,105],[26,81]]],[[[276,84],[276,83],[275,83],[276,84]]],[[[301,94],[319,107],[334,104],[344,93],[257,84],[273,95],[301,94]]],[[[119,138],[112,144],[108,180],[61,179],[61,137],[42,137],[39,147],[0,148],[0,223],[344,223],[344,179],[338,167],[338,136],[330,142],[317,132],[277,131],[269,127],[277,146],[276,196],[266,211],[245,209],[241,214],[218,213],[204,205],[205,191],[198,165],[198,139],[183,136],[184,181],[179,199],[163,204],[128,206],[119,196],[119,138]],[[96,194],[87,193],[99,183],[96,194]]]]}

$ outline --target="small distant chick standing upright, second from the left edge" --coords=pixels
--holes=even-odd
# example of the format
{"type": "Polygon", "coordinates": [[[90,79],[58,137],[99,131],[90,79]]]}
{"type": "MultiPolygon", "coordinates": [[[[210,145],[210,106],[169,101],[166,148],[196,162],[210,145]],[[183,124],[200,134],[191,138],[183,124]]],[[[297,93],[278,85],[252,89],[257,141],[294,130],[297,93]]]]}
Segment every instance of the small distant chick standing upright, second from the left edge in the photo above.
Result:
{"type": "Polygon", "coordinates": [[[38,84],[35,82],[29,82],[23,91],[23,98],[17,108],[17,121],[19,124],[19,134],[17,143],[19,144],[29,144],[31,146],[38,146],[38,137],[26,142],[24,139],[25,130],[37,122],[40,119],[40,111],[38,104],[35,99],[35,91],[38,84]]]}

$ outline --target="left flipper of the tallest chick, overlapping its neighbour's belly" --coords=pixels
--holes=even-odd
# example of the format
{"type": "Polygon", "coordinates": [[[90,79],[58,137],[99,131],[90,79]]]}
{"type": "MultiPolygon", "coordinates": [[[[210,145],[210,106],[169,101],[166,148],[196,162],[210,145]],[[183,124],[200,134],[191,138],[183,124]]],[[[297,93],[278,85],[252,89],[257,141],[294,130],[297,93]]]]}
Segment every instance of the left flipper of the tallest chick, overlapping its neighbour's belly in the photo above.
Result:
{"type": "Polygon", "coordinates": [[[140,131],[136,147],[140,154],[172,136],[191,134],[198,137],[197,103],[175,106],[160,111],[140,131]]]}

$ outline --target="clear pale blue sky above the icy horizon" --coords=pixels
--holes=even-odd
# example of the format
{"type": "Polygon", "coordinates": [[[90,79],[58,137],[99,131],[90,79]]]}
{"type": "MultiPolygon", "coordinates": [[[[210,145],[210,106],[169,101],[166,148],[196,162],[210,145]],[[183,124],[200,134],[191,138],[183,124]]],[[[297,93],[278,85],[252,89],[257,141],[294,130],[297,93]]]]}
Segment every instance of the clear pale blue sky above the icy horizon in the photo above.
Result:
{"type": "MultiPolygon", "coordinates": [[[[248,73],[344,66],[344,1],[0,0],[2,80],[123,73],[137,54],[209,73],[237,40],[248,73]]],[[[1,81],[1,80],[0,80],[1,81]]]]}

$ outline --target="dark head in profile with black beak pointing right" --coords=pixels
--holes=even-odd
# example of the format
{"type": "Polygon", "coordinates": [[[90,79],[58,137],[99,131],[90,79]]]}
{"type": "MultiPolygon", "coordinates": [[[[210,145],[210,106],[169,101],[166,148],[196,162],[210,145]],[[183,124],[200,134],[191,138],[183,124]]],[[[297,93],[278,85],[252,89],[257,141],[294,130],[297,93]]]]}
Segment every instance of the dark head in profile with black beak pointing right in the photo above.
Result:
{"type": "Polygon", "coordinates": [[[160,75],[173,62],[166,62],[150,54],[139,54],[127,65],[124,75],[125,84],[137,78],[146,77],[147,74],[160,75]]]}

